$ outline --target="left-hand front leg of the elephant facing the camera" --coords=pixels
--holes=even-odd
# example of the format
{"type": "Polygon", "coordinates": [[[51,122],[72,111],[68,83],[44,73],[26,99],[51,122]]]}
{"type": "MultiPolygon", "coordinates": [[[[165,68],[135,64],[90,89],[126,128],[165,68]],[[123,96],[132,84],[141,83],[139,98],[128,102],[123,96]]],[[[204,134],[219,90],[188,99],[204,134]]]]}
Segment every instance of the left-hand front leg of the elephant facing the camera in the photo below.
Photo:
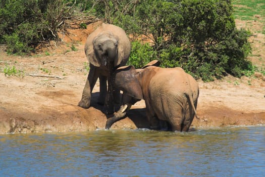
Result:
{"type": "Polygon", "coordinates": [[[93,90],[93,87],[96,83],[98,75],[96,74],[96,69],[93,65],[90,64],[90,70],[87,76],[87,80],[85,83],[85,87],[82,94],[82,99],[78,103],[78,106],[82,108],[89,108],[90,106],[90,100],[91,100],[91,92],[93,90]]]}

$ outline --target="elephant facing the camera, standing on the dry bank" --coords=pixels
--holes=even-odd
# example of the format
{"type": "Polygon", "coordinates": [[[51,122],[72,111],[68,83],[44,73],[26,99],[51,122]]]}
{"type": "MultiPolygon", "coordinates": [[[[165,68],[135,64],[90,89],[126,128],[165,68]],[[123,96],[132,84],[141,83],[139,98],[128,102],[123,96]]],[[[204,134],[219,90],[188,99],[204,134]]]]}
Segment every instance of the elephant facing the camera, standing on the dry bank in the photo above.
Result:
{"type": "Polygon", "coordinates": [[[102,23],[87,37],[85,55],[89,61],[90,70],[78,106],[90,107],[91,93],[99,78],[100,94],[97,103],[105,105],[107,114],[114,113],[114,101],[119,102],[120,91],[114,89],[113,72],[127,63],[130,50],[131,43],[125,31],[112,24],[102,23]]]}

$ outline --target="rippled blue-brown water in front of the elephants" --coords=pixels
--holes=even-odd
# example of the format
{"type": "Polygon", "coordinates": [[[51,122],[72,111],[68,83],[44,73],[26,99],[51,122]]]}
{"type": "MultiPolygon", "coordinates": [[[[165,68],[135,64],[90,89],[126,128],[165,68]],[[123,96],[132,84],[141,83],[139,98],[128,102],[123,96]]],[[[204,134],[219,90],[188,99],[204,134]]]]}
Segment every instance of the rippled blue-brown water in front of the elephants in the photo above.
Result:
{"type": "Polygon", "coordinates": [[[0,135],[0,176],[264,176],[265,127],[0,135]]]}

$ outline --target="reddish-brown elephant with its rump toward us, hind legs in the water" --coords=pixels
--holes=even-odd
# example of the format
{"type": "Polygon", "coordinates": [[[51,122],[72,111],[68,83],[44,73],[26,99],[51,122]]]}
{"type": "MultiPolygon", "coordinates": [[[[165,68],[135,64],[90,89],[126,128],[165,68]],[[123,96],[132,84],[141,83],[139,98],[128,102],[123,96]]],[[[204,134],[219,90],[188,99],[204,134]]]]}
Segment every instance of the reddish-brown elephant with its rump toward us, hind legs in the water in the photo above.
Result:
{"type": "MultiPolygon", "coordinates": [[[[124,118],[137,101],[144,99],[151,129],[188,131],[196,113],[199,87],[197,81],[182,68],[161,68],[154,60],[141,69],[119,67],[115,71],[115,87],[123,91],[118,112],[107,120],[109,129],[124,118]]],[[[198,118],[199,119],[199,118],[198,118]]]]}

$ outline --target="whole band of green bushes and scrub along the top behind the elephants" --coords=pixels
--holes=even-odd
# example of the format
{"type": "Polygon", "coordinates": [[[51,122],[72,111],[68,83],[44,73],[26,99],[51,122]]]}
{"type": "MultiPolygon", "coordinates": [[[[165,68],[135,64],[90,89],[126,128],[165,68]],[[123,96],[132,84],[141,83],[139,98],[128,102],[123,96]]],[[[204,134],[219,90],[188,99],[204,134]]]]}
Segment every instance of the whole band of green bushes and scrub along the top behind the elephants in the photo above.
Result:
{"type": "MultiPolygon", "coordinates": [[[[243,7],[263,13],[264,5],[256,1],[259,7],[246,0],[243,7]]],[[[241,1],[233,2],[236,17],[240,16],[241,6],[236,5],[241,1]]],[[[0,4],[0,42],[7,44],[9,54],[31,53],[39,43],[57,39],[58,30],[76,10],[120,26],[135,38],[147,38],[132,42],[128,64],[136,68],[158,59],[162,67],[180,66],[205,81],[227,73],[248,75],[254,68],[246,60],[250,32],[236,29],[230,0],[4,0],[0,4]]],[[[71,50],[76,51],[74,45],[71,50]]]]}

